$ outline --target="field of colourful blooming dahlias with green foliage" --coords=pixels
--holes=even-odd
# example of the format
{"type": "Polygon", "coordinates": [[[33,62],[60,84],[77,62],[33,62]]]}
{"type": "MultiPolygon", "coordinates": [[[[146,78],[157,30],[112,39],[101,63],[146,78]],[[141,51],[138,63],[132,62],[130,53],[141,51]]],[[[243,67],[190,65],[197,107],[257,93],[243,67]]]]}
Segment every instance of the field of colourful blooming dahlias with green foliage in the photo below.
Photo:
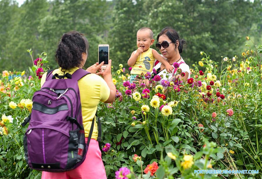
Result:
{"type": "MultiPolygon", "coordinates": [[[[44,52],[35,60],[28,52],[29,70],[0,75],[0,178],[41,177],[25,162],[27,125],[21,123],[30,114],[48,61],[44,52]]],[[[200,52],[187,81],[140,75],[150,87],[130,83],[122,64],[112,67],[116,100],[98,106],[108,178],[261,178],[261,53],[262,46],[248,47],[240,56],[215,62],[200,52]],[[259,173],[194,173],[199,169],[259,173]]]]}

